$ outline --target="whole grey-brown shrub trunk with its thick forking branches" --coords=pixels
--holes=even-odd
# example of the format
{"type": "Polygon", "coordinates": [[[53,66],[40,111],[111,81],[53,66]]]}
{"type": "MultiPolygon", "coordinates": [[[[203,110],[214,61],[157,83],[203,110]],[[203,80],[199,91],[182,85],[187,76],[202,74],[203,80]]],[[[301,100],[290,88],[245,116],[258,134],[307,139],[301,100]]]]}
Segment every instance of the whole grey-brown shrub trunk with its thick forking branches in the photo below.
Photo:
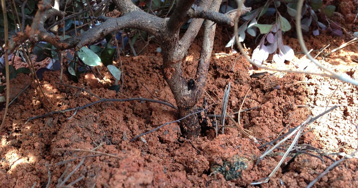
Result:
{"type": "MultiPolygon", "coordinates": [[[[46,1],[46,0],[44,0],[46,1]]],[[[170,18],[159,18],[153,14],[146,13],[132,3],[131,0],[113,0],[117,9],[121,12],[118,18],[99,16],[101,25],[96,26],[86,32],[65,40],[60,40],[53,33],[48,32],[50,28],[45,28],[45,21],[53,16],[58,16],[62,21],[70,19],[71,16],[64,17],[65,14],[56,9],[39,9],[41,12],[34,18],[34,23],[38,24],[38,34],[28,35],[32,42],[44,41],[51,43],[58,50],[74,48],[78,50],[85,45],[94,43],[105,35],[118,32],[124,28],[140,29],[153,34],[161,39],[163,66],[162,72],[165,81],[168,83],[176,104],[180,117],[187,116],[197,111],[197,101],[202,96],[205,81],[209,69],[211,51],[215,35],[215,23],[233,25],[231,17],[218,13],[221,0],[201,0],[199,5],[193,5],[195,0],[179,0],[170,18]],[[184,21],[193,18],[189,28],[183,37],[179,37],[179,30],[184,21]],[[203,20],[205,22],[204,39],[201,55],[196,71],[196,83],[193,85],[182,74],[182,58],[189,46],[196,37],[203,20]],[[190,87],[188,87],[190,85],[190,87]]],[[[32,29],[33,31],[34,29],[32,29]]],[[[19,43],[24,40],[13,40],[12,46],[8,51],[13,51],[19,43]]],[[[181,122],[181,129],[184,136],[188,138],[200,135],[200,125],[198,116],[192,115],[181,122]]]]}

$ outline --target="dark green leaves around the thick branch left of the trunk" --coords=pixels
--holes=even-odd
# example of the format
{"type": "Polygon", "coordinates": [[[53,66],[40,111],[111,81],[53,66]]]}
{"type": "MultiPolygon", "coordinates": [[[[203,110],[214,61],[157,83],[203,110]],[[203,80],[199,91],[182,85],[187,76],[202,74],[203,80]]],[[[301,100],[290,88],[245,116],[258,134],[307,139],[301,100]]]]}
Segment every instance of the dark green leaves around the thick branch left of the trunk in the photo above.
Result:
{"type": "MultiPolygon", "coordinates": [[[[132,0],[139,8],[146,12],[152,12],[156,16],[165,18],[173,11],[173,6],[176,1],[174,0],[132,0]]],[[[16,11],[18,14],[23,14],[28,17],[34,17],[37,12],[37,1],[28,1],[24,3],[25,5],[24,12],[21,12],[21,6],[16,6],[16,11]]],[[[8,20],[10,20],[9,32],[11,35],[15,36],[18,33],[18,30],[15,28],[16,23],[16,11],[11,9],[13,7],[8,6],[8,20]]],[[[101,23],[96,21],[93,18],[96,18],[100,15],[105,15],[106,13],[112,11],[115,8],[115,5],[111,1],[99,1],[99,0],[90,0],[90,1],[81,1],[81,0],[69,0],[66,1],[66,4],[63,3],[60,5],[60,10],[66,12],[66,18],[62,26],[58,28],[58,35],[61,39],[63,37],[70,38],[76,36],[78,33],[83,33],[88,29],[94,28],[101,23]],[[89,11],[89,8],[92,7],[93,14],[89,11]],[[74,13],[77,14],[76,16],[74,13]],[[91,17],[93,16],[93,17],[91,17]]],[[[50,19],[47,21],[48,28],[52,27],[56,22],[56,19],[50,19]]],[[[31,25],[31,20],[26,19],[25,25],[31,25]]],[[[4,38],[4,21],[2,14],[0,15],[0,40],[4,38]]],[[[140,32],[137,29],[125,29],[117,33],[112,33],[106,35],[105,38],[100,39],[97,43],[89,45],[87,47],[82,47],[78,53],[75,53],[74,57],[71,55],[71,50],[65,50],[64,53],[67,53],[67,72],[74,81],[78,80],[78,76],[81,73],[84,73],[90,70],[90,67],[98,66],[102,62],[105,66],[112,65],[113,59],[118,56],[116,54],[117,46],[119,47],[120,53],[128,53],[128,50],[125,50],[129,40],[134,44],[137,39],[147,40],[149,42],[150,36],[147,32],[140,32]],[[113,38],[114,37],[114,38],[113,38]],[[117,43],[117,44],[116,44],[117,43]]],[[[0,41],[3,43],[3,41],[0,41]]],[[[46,58],[50,58],[50,64],[37,72],[38,76],[41,78],[43,72],[58,70],[59,66],[59,56],[57,49],[50,43],[40,42],[32,47],[32,53],[37,56],[35,59],[36,62],[43,61],[46,58]],[[56,65],[56,66],[54,66],[56,65]]],[[[1,49],[2,56],[3,49],[1,49]]],[[[4,69],[5,71],[5,69],[4,69]]],[[[119,73],[121,71],[118,69],[119,73]]],[[[111,72],[111,71],[110,71],[111,72]]],[[[116,77],[112,72],[111,74],[116,77]]],[[[116,72],[118,74],[118,72],[116,72]]],[[[16,74],[11,74],[11,78],[14,78],[16,74]]],[[[117,79],[118,77],[116,77],[117,79]]],[[[119,79],[120,80],[120,76],[119,79]]],[[[114,85],[117,86],[117,85],[114,85]]]]}

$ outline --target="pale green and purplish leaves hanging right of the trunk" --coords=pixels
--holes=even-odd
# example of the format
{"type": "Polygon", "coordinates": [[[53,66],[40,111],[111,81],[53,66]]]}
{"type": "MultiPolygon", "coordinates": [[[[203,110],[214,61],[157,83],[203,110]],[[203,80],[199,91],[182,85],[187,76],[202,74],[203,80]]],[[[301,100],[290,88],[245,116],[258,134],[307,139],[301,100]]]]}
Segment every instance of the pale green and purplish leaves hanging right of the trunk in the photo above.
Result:
{"type": "MultiPolygon", "coordinates": [[[[250,3],[250,1],[248,2],[250,3]]],[[[257,47],[253,50],[251,57],[257,64],[262,64],[263,61],[266,61],[269,54],[274,54],[273,61],[276,63],[291,61],[294,58],[294,51],[282,42],[282,34],[291,29],[291,22],[294,22],[297,14],[297,1],[267,0],[265,2],[264,5],[242,16],[241,19],[244,23],[240,26],[237,33],[239,41],[244,41],[246,33],[256,37],[256,40],[260,40],[257,47]],[[282,6],[286,6],[286,8],[280,8],[282,6]],[[282,10],[285,10],[285,12],[282,10]],[[259,20],[261,20],[261,23],[258,22],[259,20]],[[267,23],[267,20],[274,21],[267,23]]],[[[328,19],[329,16],[332,16],[334,10],[334,5],[323,7],[322,0],[305,1],[301,13],[303,18],[301,19],[301,28],[303,32],[308,33],[310,28],[315,28],[312,31],[313,35],[319,35],[320,30],[328,30],[334,36],[342,36],[340,25],[328,19]],[[322,22],[326,22],[328,26],[322,22]]],[[[232,48],[234,43],[233,36],[226,47],[232,48]]]]}

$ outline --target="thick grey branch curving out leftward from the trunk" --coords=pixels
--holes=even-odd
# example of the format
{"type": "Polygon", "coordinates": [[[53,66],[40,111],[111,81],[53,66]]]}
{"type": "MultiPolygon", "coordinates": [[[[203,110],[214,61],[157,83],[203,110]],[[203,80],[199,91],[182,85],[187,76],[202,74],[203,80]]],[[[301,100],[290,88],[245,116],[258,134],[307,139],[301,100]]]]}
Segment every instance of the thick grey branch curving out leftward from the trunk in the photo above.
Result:
{"type": "Polygon", "coordinates": [[[47,10],[39,23],[40,33],[32,40],[32,42],[48,42],[59,50],[69,48],[75,48],[78,50],[85,45],[94,43],[96,40],[103,38],[109,33],[117,32],[124,28],[145,30],[156,37],[159,37],[161,30],[163,30],[164,21],[164,19],[145,13],[142,10],[131,11],[130,13],[122,15],[119,18],[110,18],[102,15],[98,18],[103,21],[101,25],[89,29],[76,37],[60,40],[54,34],[47,32],[44,28],[45,21],[54,15],[63,16],[63,12],[55,9],[47,10]]]}

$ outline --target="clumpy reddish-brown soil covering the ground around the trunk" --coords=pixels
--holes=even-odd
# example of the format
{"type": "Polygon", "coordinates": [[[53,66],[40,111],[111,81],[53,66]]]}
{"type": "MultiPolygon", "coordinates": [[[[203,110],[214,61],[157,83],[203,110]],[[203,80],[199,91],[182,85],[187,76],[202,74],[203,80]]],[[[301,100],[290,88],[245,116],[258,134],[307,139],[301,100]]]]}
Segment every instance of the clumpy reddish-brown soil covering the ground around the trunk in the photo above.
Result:
{"type": "MultiPolygon", "coordinates": [[[[348,15],[338,13],[343,17],[348,15]]],[[[352,21],[345,29],[354,31],[357,24],[352,21]]],[[[195,76],[200,36],[202,34],[183,60],[184,76],[188,79],[195,76]]],[[[284,36],[284,43],[295,50],[297,57],[282,65],[265,64],[299,70],[307,61],[298,53],[301,49],[297,39],[289,37],[290,33],[284,36]]],[[[78,110],[76,114],[64,112],[25,124],[29,117],[50,112],[46,108],[49,102],[65,110],[87,105],[98,98],[87,91],[59,85],[57,71],[44,73],[41,81],[47,101],[36,92],[29,75],[19,74],[11,80],[11,98],[29,83],[31,86],[11,104],[1,131],[0,187],[31,187],[34,184],[46,187],[48,182],[49,187],[253,187],[250,183],[266,178],[282,158],[282,150],[274,150],[256,164],[266,150],[259,146],[300,125],[308,115],[317,116],[332,105],[339,107],[307,127],[305,131],[314,129],[301,136],[298,146],[311,145],[332,160],[357,150],[358,87],[327,77],[252,69],[243,56],[231,54],[230,49],[224,48],[230,37],[225,29],[217,29],[206,91],[198,102],[205,107],[205,102],[210,105],[221,100],[225,86],[231,82],[227,113],[233,119],[226,119],[224,134],[219,130],[217,136],[214,117],[202,114],[209,128],[199,138],[180,137],[179,125],[173,123],[130,141],[143,132],[178,119],[176,110],[171,107],[145,101],[102,102],[78,110]],[[267,73],[257,74],[262,72],[267,73]],[[235,112],[240,110],[244,98],[242,110],[256,108],[241,112],[239,123],[235,112]],[[95,152],[90,151],[93,148],[95,152]],[[67,180],[61,184],[63,179],[67,180]]],[[[305,36],[307,48],[315,50],[313,55],[328,44],[330,47],[324,53],[350,39],[347,33],[343,37],[305,36]]],[[[252,52],[255,44],[250,41],[245,44],[248,52],[252,52]]],[[[115,81],[105,67],[99,68],[104,77],[100,78],[101,82],[89,72],[82,74],[78,83],[64,76],[63,83],[84,88],[101,98],[153,98],[154,95],[175,104],[161,75],[157,47],[159,44],[152,43],[141,56],[121,57],[124,85],[119,93],[108,90],[115,81]]],[[[330,70],[358,79],[357,52],[358,45],[352,44],[324,59],[323,56],[317,59],[330,70]]],[[[20,59],[16,63],[19,66],[20,59]]],[[[320,72],[315,67],[310,71],[320,72]]],[[[4,110],[1,117],[3,113],[4,110]]],[[[209,108],[207,114],[221,114],[221,102],[209,108]]],[[[317,155],[313,150],[306,152],[317,155]]],[[[308,154],[290,154],[269,182],[259,186],[306,187],[333,163],[327,157],[321,159],[308,154]]],[[[314,187],[358,187],[357,166],[357,159],[347,159],[314,187]]]]}

